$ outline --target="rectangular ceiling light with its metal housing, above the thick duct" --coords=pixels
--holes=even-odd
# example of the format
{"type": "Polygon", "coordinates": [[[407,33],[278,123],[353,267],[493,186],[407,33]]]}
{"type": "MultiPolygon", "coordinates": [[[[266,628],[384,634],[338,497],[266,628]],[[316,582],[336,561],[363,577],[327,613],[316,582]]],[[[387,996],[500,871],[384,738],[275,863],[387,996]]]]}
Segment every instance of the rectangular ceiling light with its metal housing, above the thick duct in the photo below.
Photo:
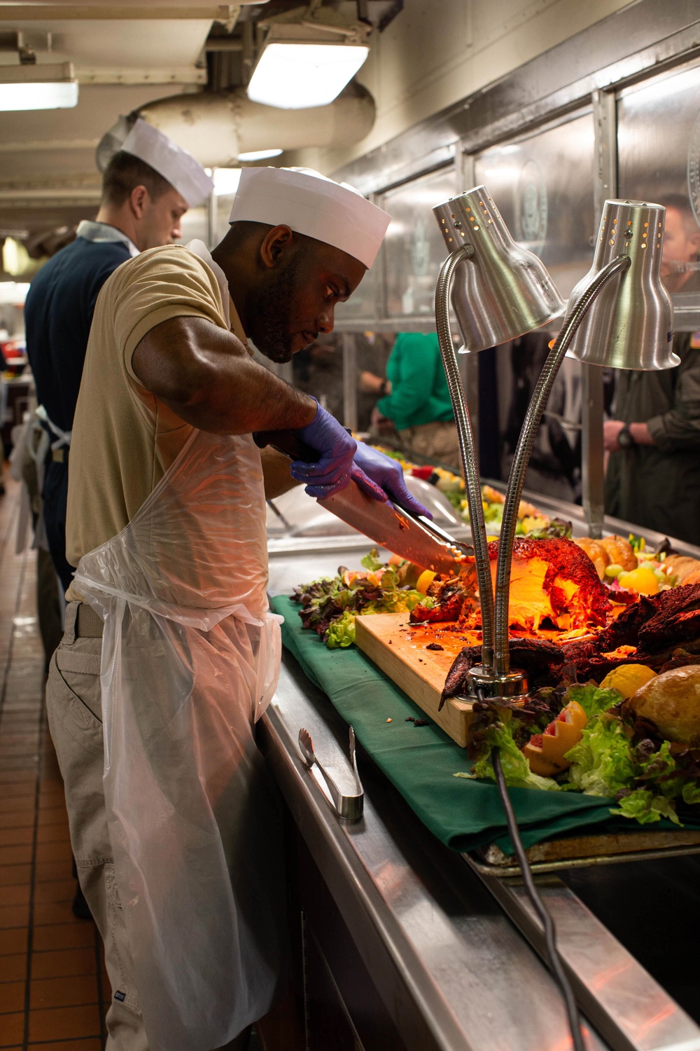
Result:
{"type": "Polygon", "coordinates": [[[271,23],[248,98],[279,109],[310,109],[336,99],[369,48],[361,32],[328,32],[306,22],[271,23]]]}

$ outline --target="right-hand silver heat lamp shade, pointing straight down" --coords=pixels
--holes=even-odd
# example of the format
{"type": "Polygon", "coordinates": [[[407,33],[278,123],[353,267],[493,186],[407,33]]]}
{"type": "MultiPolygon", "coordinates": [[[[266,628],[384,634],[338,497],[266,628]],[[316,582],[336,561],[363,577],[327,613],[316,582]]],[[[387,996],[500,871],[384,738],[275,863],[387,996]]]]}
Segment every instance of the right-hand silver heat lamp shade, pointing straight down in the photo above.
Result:
{"type": "Polygon", "coordinates": [[[661,205],[606,201],[593,266],[572,291],[568,312],[608,263],[627,255],[630,266],[589,308],[571,342],[571,357],[646,372],[680,365],[673,352],[673,306],[661,284],[664,222],[661,205]]]}

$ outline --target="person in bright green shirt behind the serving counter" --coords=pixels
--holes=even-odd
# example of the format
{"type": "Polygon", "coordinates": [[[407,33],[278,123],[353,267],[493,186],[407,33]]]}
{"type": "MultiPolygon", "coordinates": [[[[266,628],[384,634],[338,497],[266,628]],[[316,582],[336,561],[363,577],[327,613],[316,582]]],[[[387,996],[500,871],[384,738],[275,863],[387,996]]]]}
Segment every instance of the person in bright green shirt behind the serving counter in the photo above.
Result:
{"type": "Polygon", "coordinates": [[[386,379],[363,372],[360,386],[383,395],[375,423],[390,419],[407,450],[460,470],[452,403],[434,333],[400,332],[386,364],[386,379]]]}

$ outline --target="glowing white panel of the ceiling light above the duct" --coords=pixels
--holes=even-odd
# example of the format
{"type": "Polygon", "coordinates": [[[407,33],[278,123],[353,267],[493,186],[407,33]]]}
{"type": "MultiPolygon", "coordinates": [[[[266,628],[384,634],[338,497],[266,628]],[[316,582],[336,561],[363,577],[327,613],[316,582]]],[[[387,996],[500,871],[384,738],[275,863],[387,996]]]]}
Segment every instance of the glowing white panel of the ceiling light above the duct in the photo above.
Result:
{"type": "Polygon", "coordinates": [[[363,44],[270,43],[253,70],[248,98],[280,109],[326,106],[368,54],[363,44]]]}

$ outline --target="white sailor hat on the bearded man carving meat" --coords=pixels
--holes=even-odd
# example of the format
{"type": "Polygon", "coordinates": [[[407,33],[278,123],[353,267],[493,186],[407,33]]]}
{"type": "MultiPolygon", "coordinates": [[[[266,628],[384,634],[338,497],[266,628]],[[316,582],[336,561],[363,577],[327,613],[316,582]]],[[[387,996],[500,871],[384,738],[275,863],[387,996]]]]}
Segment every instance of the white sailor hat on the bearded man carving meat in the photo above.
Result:
{"type": "Polygon", "coordinates": [[[390,215],[347,183],[311,168],[245,168],[229,223],[289,226],[347,252],[368,268],[390,215]]]}

